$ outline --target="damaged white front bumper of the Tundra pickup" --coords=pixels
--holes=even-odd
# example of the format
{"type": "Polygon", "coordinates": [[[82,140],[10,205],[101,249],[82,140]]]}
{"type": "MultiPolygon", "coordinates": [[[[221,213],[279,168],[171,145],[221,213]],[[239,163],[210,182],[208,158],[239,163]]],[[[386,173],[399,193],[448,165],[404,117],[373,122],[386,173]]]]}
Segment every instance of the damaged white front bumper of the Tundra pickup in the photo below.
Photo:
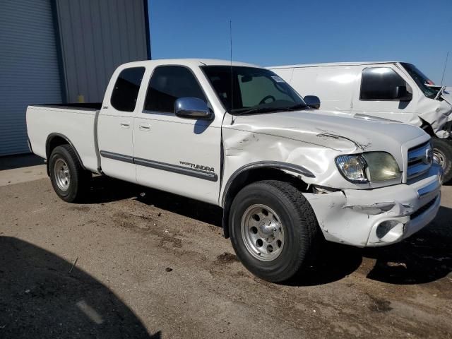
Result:
{"type": "Polygon", "coordinates": [[[441,204],[441,167],[407,184],[304,194],[325,238],[353,246],[400,242],[431,222],[441,204]]]}

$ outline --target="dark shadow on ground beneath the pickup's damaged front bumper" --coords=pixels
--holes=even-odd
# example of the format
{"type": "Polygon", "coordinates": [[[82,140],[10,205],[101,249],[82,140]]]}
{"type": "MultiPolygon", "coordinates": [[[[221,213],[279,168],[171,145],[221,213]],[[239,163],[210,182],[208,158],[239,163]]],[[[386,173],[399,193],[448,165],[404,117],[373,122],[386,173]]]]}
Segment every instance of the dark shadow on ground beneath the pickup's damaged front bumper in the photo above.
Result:
{"type": "Polygon", "coordinates": [[[359,249],[323,243],[318,260],[287,285],[314,286],[332,283],[355,272],[364,258],[375,259],[367,278],[383,283],[411,285],[430,283],[452,272],[452,209],[441,206],[435,220],[403,242],[359,249]]]}

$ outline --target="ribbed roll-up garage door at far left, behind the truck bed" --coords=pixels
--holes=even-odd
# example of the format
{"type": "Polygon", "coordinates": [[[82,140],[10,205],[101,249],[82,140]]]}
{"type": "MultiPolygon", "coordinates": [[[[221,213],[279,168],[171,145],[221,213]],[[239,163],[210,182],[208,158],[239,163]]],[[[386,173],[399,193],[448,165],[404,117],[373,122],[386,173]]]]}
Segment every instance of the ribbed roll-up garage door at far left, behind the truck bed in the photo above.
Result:
{"type": "Polygon", "coordinates": [[[0,156],[27,153],[25,110],[61,102],[50,0],[1,0],[0,156]]]}

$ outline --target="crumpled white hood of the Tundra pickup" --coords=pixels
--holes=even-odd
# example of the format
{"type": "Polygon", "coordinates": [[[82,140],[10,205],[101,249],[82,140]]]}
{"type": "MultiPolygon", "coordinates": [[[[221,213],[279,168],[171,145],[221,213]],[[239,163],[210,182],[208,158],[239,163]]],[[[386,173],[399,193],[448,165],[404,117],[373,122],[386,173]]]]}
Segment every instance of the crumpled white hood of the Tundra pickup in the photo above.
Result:
{"type": "Polygon", "coordinates": [[[400,154],[403,143],[427,136],[397,121],[323,110],[249,114],[226,128],[280,136],[335,150],[380,150],[400,154]]]}

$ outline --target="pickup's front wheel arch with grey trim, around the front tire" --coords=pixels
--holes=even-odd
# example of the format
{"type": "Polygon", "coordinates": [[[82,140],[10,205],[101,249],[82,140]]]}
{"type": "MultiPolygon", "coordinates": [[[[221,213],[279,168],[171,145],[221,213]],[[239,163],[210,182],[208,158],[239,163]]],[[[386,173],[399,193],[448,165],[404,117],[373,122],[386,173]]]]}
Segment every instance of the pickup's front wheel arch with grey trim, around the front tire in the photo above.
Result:
{"type": "Polygon", "coordinates": [[[225,189],[221,198],[223,208],[222,227],[223,235],[229,238],[229,214],[234,197],[246,185],[261,180],[280,180],[290,182],[298,189],[307,191],[307,184],[302,177],[314,178],[314,174],[299,165],[278,161],[259,161],[244,165],[237,169],[225,184],[225,189]]]}

